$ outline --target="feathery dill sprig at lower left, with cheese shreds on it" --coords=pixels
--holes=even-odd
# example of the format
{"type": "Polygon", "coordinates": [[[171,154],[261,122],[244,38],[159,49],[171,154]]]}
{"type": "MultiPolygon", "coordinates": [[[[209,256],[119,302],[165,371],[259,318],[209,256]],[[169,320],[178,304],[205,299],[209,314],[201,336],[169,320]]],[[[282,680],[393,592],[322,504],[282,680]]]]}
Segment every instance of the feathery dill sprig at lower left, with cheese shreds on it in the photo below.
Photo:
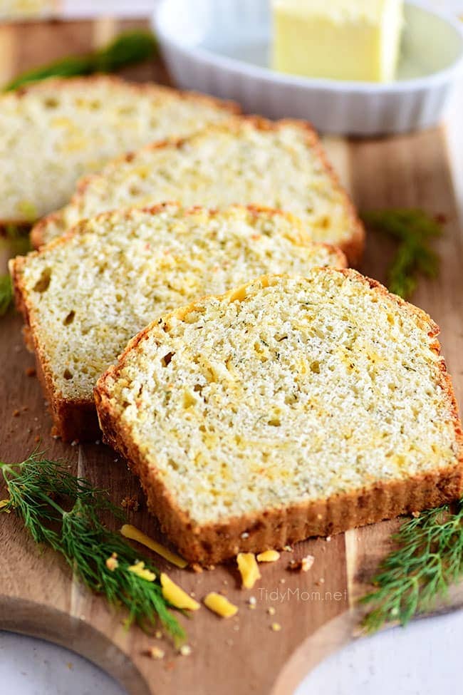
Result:
{"type": "Polygon", "coordinates": [[[123,513],[103,490],[69,472],[63,461],[33,453],[22,463],[0,463],[9,500],[1,511],[14,511],[37,543],[60,552],[74,574],[111,605],[128,610],[127,625],[142,629],[160,620],[175,641],[184,631],[162,596],[159,572],[149,560],[100,521],[100,513],[123,513]],[[145,578],[152,573],[152,579],[145,578]],[[145,577],[142,575],[145,574],[145,577]]]}

